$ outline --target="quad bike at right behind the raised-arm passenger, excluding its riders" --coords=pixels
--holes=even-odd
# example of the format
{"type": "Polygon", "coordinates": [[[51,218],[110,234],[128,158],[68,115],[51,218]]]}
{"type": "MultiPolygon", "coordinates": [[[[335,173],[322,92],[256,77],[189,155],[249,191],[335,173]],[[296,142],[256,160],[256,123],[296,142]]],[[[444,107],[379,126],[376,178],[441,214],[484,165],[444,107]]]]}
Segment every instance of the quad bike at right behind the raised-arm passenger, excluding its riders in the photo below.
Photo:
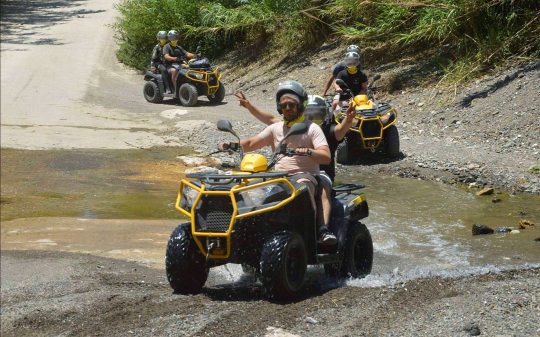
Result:
{"type": "Polygon", "coordinates": [[[340,164],[354,162],[368,151],[386,157],[397,157],[400,154],[400,136],[395,126],[397,111],[390,104],[377,102],[373,97],[373,93],[377,90],[373,84],[380,78],[380,74],[373,77],[368,84],[367,95],[355,97],[343,80],[336,80],[336,84],[343,90],[342,96],[350,98],[349,104],[334,112],[336,123],[341,123],[345,119],[345,112],[351,102],[354,101],[356,104],[353,126],[336,150],[336,161],[340,164]]]}

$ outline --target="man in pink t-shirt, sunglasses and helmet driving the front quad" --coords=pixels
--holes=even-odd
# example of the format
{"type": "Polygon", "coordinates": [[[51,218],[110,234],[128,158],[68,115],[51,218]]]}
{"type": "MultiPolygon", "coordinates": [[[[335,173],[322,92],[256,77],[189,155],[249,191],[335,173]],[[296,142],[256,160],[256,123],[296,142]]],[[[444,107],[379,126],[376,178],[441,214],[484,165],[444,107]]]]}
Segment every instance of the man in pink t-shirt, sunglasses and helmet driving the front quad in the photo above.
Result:
{"type": "MultiPolygon", "coordinates": [[[[278,146],[284,135],[289,132],[295,123],[306,123],[308,131],[305,134],[294,135],[287,139],[287,147],[293,148],[297,153],[310,156],[286,156],[275,164],[275,169],[286,171],[289,177],[297,182],[305,182],[317,204],[317,219],[319,221],[319,237],[323,245],[334,245],[337,240],[335,235],[328,230],[323,216],[323,205],[329,205],[329,201],[321,202],[321,194],[316,193],[316,183],[319,176],[319,164],[328,164],[331,160],[330,149],[321,128],[315,123],[306,120],[303,110],[307,104],[307,94],[302,85],[295,81],[286,81],[278,86],[275,94],[278,112],[283,115],[283,121],[269,125],[257,136],[240,140],[240,145],[245,152],[258,150],[265,146],[278,146]],[[311,176],[306,176],[311,175],[311,176]]],[[[229,143],[220,143],[219,149],[226,150],[229,143]]]]}

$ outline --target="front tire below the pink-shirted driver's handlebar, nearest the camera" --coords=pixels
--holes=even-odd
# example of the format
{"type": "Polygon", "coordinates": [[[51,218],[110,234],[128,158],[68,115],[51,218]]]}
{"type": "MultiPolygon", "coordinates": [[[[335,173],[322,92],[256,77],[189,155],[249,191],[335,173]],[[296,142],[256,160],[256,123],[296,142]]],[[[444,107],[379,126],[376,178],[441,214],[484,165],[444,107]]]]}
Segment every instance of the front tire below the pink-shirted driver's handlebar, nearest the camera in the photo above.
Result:
{"type": "Polygon", "coordinates": [[[306,270],[306,248],[300,235],[275,233],[262,247],[261,281],[276,299],[293,299],[302,289],[306,270]]]}

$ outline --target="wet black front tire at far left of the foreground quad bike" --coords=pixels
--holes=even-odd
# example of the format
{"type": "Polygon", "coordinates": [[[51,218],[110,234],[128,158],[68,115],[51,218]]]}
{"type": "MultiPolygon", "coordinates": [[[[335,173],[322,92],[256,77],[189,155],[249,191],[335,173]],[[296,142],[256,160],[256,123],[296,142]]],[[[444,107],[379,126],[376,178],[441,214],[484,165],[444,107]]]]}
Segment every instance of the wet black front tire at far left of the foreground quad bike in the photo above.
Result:
{"type": "Polygon", "coordinates": [[[208,278],[205,257],[191,237],[190,227],[190,223],[179,225],[167,243],[165,272],[176,293],[197,293],[208,278]]]}

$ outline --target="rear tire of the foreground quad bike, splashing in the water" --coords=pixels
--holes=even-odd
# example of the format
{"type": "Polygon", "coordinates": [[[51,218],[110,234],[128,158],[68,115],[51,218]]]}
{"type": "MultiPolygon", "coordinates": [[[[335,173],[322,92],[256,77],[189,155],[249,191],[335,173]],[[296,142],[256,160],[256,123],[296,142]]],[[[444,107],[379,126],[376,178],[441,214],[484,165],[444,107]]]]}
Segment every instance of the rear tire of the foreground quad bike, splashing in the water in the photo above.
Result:
{"type": "Polygon", "coordinates": [[[341,265],[342,276],[362,278],[373,266],[373,241],[366,225],[355,222],[347,230],[345,258],[341,265]]]}

